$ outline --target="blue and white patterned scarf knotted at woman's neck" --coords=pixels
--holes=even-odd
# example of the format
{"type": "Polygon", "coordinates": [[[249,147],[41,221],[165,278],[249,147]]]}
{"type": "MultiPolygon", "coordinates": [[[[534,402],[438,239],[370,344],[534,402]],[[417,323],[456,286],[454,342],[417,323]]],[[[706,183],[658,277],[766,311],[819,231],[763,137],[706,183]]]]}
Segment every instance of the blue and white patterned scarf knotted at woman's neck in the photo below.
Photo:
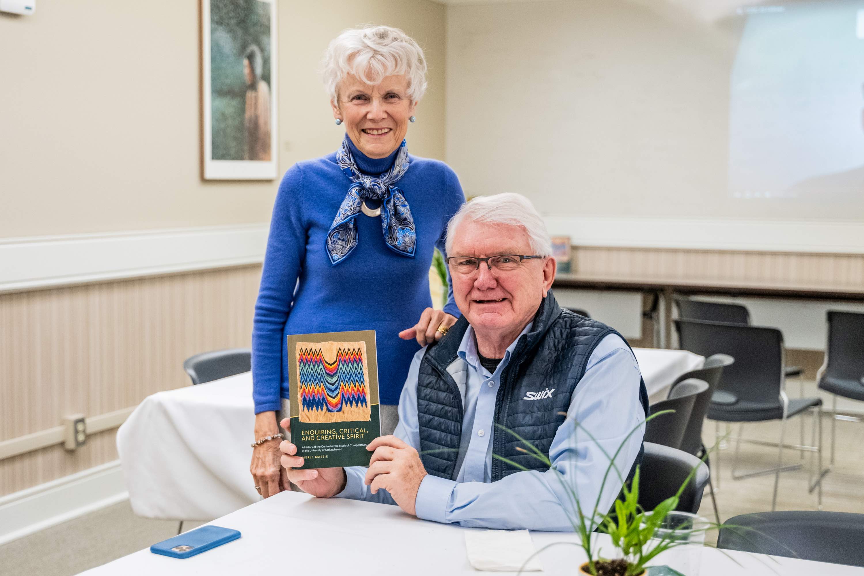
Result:
{"type": "Polygon", "coordinates": [[[336,161],[352,184],[327,232],[326,247],[330,263],[335,266],[342,262],[357,246],[357,223],[354,218],[360,213],[360,205],[365,199],[381,202],[381,228],[387,246],[397,254],[413,258],[417,238],[414,218],[411,217],[411,209],[402,190],[396,186],[408,170],[408,146],[405,141],[399,145],[393,166],[378,177],[363,174],[357,168],[351,149],[348,148],[347,135],[336,153],[336,161]]]}

